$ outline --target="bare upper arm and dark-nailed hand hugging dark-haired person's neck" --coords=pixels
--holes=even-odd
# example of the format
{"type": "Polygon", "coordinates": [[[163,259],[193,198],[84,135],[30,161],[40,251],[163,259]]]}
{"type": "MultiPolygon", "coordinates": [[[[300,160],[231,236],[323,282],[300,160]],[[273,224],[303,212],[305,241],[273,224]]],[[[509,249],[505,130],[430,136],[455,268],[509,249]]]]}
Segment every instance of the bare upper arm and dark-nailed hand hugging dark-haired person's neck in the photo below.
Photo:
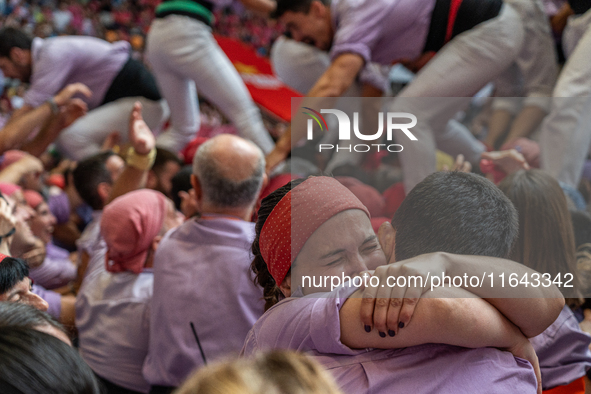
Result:
{"type": "MultiPolygon", "coordinates": [[[[528,338],[541,334],[556,320],[564,306],[564,298],[560,290],[553,284],[548,287],[534,287],[517,283],[512,287],[506,282],[502,287],[499,279],[502,274],[508,280],[510,274],[515,274],[517,278],[522,278],[524,275],[532,278],[532,274],[537,272],[510,260],[449,253],[417,256],[378,267],[374,272],[374,275],[380,278],[380,283],[387,283],[388,277],[422,277],[423,280],[418,282],[423,282],[422,285],[425,287],[433,283],[433,279],[431,282],[427,280],[429,276],[431,278],[441,275],[452,278],[477,276],[479,279],[484,277],[485,282],[481,287],[469,286],[467,281],[462,281],[460,286],[488,301],[518,326],[528,338]],[[490,286],[490,275],[493,281],[496,281],[493,282],[494,286],[490,286]],[[464,287],[466,285],[468,286],[464,287]]],[[[408,282],[410,283],[410,280],[408,282]]],[[[365,324],[370,325],[373,321],[382,331],[385,327],[394,327],[399,332],[398,323],[395,322],[409,325],[411,317],[414,316],[414,309],[422,302],[419,299],[425,290],[420,287],[367,287],[361,319],[366,322],[365,324]]]]}

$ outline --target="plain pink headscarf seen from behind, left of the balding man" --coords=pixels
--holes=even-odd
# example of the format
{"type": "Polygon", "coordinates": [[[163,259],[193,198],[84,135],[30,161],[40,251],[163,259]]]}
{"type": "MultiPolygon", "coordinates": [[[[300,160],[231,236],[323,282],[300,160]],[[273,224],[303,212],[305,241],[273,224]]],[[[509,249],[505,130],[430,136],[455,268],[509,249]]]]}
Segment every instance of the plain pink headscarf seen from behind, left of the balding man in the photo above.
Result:
{"type": "Polygon", "coordinates": [[[139,274],[166,216],[166,197],[141,189],[116,198],[103,210],[101,234],[107,243],[107,271],[139,274]]]}

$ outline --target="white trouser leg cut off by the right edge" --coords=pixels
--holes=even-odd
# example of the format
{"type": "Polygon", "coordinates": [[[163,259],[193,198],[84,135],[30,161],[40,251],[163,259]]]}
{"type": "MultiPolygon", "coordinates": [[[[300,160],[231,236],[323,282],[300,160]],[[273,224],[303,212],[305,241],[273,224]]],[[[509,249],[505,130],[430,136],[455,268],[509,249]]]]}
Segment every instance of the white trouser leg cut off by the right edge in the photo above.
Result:
{"type": "Polygon", "coordinates": [[[554,89],[552,111],[542,123],[541,165],[577,187],[591,144],[591,10],[569,18],[564,38],[567,55],[572,53],[554,89]]]}

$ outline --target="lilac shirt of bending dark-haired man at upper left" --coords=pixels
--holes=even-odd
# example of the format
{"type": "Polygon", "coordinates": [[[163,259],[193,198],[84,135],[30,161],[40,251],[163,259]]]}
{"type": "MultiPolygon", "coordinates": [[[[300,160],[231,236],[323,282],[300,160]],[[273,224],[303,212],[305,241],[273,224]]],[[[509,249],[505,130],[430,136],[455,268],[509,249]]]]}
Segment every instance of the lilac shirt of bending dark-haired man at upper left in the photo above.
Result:
{"type": "Polygon", "coordinates": [[[130,48],[125,41],[110,44],[93,37],[33,39],[33,70],[25,104],[37,107],[66,85],[81,82],[92,91],[90,98],[81,97],[88,109],[98,107],[129,59],[130,48]]]}

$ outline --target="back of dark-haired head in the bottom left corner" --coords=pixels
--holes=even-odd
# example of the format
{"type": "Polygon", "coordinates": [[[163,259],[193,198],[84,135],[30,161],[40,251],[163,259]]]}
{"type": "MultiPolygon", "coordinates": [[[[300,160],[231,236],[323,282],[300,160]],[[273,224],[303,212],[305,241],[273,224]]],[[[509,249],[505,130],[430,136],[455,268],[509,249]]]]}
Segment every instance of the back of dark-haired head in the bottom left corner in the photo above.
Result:
{"type": "Polygon", "coordinates": [[[90,367],[71,346],[31,328],[0,327],[3,394],[99,394],[90,367]]]}

